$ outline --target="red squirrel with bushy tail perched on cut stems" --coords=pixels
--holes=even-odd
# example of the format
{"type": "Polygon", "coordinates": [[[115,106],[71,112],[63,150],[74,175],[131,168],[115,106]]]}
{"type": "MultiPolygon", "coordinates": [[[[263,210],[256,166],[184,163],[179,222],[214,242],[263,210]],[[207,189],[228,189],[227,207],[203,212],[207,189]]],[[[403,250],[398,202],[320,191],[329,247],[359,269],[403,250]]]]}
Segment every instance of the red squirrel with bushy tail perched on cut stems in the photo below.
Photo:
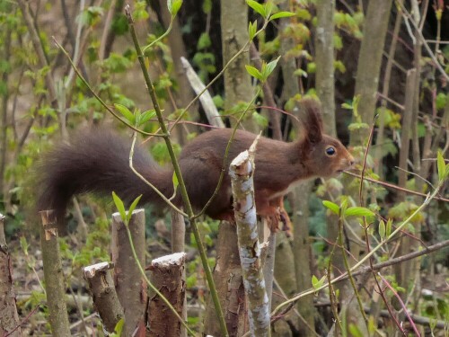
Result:
{"type": "MultiPolygon", "coordinates": [[[[289,222],[283,208],[283,196],[295,182],[313,177],[330,177],[348,169],[354,158],[338,139],[323,133],[320,106],[303,100],[304,130],[302,137],[286,143],[260,137],[255,155],[254,187],[258,215],[268,217],[271,229],[279,220],[289,222]]],[[[196,210],[202,209],[216,189],[225,167],[225,177],[216,198],[206,209],[209,217],[233,221],[233,198],[228,175],[235,156],[248,149],[256,135],[237,130],[225,161],[225,148],[232,129],[207,131],[182,148],[180,170],[189,200],[196,210]]],[[[128,164],[130,140],[106,129],[84,130],[70,144],[60,144],[45,155],[40,167],[38,208],[55,209],[60,223],[69,200],[75,194],[93,192],[109,195],[115,191],[128,203],[142,194],[140,204],[164,207],[164,201],[151,187],[131,171],[128,164]]],[[[136,146],[134,167],[164,196],[173,195],[172,168],[163,168],[136,146]]],[[[173,203],[182,206],[180,193],[173,203]]]]}

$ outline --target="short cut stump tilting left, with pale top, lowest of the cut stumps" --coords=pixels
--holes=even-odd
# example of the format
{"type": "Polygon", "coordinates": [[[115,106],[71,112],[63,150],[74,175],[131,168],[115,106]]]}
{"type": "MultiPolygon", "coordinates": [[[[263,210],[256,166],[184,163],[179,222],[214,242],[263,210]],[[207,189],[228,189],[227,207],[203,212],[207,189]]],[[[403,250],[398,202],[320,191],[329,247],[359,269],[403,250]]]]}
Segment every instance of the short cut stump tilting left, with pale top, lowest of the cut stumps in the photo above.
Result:
{"type": "Polygon", "coordinates": [[[101,262],[84,268],[84,279],[92,293],[93,306],[101,317],[104,329],[108,333],[115,331],[119,320],[124,318],[123,308],[115,290],[110,270],[112,263],[101,262]]]}

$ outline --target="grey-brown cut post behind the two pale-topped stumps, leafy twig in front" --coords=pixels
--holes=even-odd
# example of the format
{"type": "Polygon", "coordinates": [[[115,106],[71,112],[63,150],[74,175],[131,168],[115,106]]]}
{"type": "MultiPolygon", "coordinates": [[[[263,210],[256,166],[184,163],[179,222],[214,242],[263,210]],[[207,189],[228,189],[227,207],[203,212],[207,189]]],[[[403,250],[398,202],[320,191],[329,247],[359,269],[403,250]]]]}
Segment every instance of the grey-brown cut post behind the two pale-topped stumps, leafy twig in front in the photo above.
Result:
{"type": "MultiPolygon", "coordinates": [[[[134,249],[141,265],[145,265],[145,211],[136,209],[129,221],[134,249]]],[[[124,335],[131,336],[143,322],[146,285],[134,260],[125,224],[119,213],[112,214],[112,262],[117,295],[125,314],[124,335]]]]}

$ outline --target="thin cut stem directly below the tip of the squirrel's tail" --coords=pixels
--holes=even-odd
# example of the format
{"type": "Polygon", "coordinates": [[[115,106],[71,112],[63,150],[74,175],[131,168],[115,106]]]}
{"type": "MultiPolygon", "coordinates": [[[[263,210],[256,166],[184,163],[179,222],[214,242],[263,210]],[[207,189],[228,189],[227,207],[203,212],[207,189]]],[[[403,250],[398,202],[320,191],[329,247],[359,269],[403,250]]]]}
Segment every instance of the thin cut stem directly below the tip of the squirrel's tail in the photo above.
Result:
{"type": "Polygon", "coordinates": [[[53,336],[70,336],[67,307],[64,301],[66,282],[62,272],[59,243],[57,242],[57,218],[53,210],[40,212],[40,247],[44,264],[48,313],[53,336]]]}

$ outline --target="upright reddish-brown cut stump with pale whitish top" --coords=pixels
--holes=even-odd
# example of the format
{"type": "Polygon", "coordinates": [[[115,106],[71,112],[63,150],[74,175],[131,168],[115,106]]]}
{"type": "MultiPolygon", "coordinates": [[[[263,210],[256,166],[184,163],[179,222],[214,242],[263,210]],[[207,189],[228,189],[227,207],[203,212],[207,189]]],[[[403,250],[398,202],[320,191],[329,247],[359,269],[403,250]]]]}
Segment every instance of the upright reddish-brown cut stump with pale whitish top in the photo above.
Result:
{"type": "MultiPolygon", "coordinates": [[[[183,312],[186,296],[184,277],[186,253],[173,253],[153,260],[150,265],[152,282],[164,297],[166,297],[179,315],[183,312]]],[[[182,316],[182,315],[181,315],[182,316]]],[[[148,304],[148,337],[179,337],[181,333],[180,320],[173,315],[161,297],[154,294],[148,304]]]]}

